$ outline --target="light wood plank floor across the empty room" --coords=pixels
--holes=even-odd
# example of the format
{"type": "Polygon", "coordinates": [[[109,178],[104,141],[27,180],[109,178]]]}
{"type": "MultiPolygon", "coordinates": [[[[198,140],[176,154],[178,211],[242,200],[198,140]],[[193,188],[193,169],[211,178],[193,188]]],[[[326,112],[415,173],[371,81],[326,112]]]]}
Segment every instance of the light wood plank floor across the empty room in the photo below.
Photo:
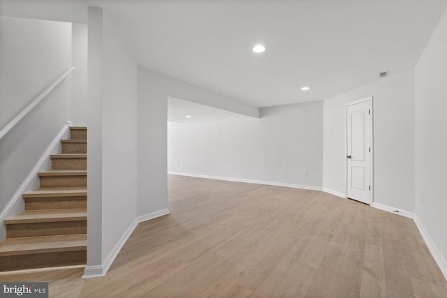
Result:
{"type": "Polygon", "coordinates": [[[447,297],[409,218],[318,191],[179,176],[169,207],[138,225],[104,278],[0,281],[50,281],[50,297],[447,297]]]}

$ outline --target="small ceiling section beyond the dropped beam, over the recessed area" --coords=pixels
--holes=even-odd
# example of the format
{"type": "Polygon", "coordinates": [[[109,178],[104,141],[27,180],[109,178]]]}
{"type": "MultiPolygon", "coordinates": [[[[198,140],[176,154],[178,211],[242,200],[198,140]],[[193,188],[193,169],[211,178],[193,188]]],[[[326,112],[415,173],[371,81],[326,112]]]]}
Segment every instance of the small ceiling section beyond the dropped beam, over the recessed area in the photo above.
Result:
{"type": "Polygon", "coordinates": [[[187,100],[168,98],[168,122],[173,124],[207,124],[242,118],[253,119],[215,107],[191,103],[187,100]],[[191,116],[191,118],[186,118],[186,115],[191,116]]]}

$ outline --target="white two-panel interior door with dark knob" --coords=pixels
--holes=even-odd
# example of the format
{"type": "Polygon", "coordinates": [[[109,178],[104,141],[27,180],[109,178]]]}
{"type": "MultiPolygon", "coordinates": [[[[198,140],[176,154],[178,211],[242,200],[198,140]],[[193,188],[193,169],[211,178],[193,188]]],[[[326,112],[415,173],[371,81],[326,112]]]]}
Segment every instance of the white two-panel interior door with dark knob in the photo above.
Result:
{"type": "Polygon", "coordinates": [[[346,105],[348,198],[371,204],[371,100],[346,105]]]}

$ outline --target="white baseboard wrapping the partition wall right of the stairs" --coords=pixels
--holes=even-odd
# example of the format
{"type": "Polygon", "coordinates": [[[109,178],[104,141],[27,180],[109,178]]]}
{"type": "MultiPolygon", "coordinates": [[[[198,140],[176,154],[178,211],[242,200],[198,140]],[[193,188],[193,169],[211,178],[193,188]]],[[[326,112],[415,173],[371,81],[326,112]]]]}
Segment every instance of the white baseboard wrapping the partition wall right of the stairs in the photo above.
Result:
{"type": "Polygon", "coordinates": [[[122,237],[119,238],[117,244],[115,244],[115,247],[112,249],[112,251],[110,251],[107,258],[105,258],[103,264],[85,267],[84,275],[82,276],[82,278],[95,278],[105,276],[108,269],[110,269],[110,266],[112,266],[113,261],[115,260],[115,258],[117,258],[119,251],[121,251],[121,248],[123,248],[124,244],[126,244],[127,239],[129,239],[138,223],[141,223],[142,221],[148,221],[149,219],[157,218],[166,214],[169,214],[169,209],[167,208],[149,214],[144,214],[135,218],[131,225],[129,225],[129,228],[127,228],[126,232],[124,232],[124,234],[122,234],[122,237]]]}

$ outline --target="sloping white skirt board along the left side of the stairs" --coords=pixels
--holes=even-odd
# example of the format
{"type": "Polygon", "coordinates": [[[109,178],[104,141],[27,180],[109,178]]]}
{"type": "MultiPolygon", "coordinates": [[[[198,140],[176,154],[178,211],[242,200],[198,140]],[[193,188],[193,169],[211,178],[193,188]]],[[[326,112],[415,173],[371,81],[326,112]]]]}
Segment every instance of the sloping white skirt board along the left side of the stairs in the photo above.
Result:
{"type": "Polygon", "coordinates": [[[18,212],[24,211],[24,204],[22,204],[22,207],[17,206],[17,204],[21,202],[20,199],[22,198],[22,193],[32,191],[35,188],[34,185],[38,184],[37,173],[43,170],[47,170],[44,167],[45,162],[49,164],[50,154],[54,153],[55,148],[57,147],[58,144],[60,144],[62,136],[68,131],[68,122],[69,121],[67,121],[67,124],[65,124],[64,127],[62,127],[61,131],[57,133],[57,135],[48,145],[47,149],[45,149],[45,151],[43,152],[41,158],[38,159],[36,165],[34,165],[34,167],[29,172],[28,176],[24,179],[22,184],[20,184],[19,188],[17,188],[17,191],[14,193],[13,197],[10,198],[8,204],[6,204],[6,206],[0,212],[0,224],[2,227],[3,227],[3,221],[6,218],[8,218],[9,216],[13,216],[14,214],[17,214],[17,211],[18,212]]]}

